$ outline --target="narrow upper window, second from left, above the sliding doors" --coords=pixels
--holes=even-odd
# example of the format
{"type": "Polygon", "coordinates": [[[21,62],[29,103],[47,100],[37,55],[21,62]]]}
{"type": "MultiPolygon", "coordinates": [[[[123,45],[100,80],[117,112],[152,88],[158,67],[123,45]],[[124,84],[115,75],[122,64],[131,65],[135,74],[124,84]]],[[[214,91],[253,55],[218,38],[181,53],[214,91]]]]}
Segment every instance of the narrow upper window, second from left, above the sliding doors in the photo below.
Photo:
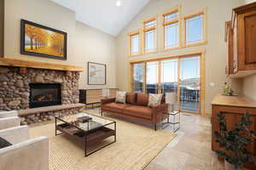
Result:
{"type": "Polygon", "coordinates": [[[156,17],[150,20],[143,21],[143,37],[144,37],[143,52],[145,54],[156,51],[156,42],[157,42],[156,27],[157,27],[156,17]]]}

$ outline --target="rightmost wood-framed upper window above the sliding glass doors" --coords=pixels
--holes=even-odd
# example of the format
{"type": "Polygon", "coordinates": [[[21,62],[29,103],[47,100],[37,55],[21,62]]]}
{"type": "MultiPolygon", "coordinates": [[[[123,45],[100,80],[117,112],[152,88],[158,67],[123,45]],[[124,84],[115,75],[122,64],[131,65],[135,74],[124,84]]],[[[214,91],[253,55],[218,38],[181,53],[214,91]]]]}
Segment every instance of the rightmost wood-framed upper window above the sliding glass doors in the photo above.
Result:
{"type": "Polygon", "coordinates": [[[184,17],[185,45],[195,45],[206,41],[206,12],[201,11],[184,17]]]}

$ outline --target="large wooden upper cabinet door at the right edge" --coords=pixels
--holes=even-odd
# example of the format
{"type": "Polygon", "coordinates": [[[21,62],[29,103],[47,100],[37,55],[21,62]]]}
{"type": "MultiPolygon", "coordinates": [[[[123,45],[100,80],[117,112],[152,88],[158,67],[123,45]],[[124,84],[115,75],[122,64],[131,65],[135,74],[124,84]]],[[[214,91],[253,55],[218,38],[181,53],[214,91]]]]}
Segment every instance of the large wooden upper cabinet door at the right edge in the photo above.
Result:
{"type": "Polygon", "coordinates": [[[256,69],[256,11],[238,16],[239,69],[256,69]]]}

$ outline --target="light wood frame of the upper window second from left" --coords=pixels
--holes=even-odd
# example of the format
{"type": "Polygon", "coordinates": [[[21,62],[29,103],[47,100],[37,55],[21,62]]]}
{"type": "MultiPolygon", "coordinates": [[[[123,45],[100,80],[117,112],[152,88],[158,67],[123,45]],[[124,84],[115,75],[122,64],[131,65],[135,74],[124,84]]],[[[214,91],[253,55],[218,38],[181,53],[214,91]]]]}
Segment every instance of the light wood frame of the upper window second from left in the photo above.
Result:
{"type": "Polygon", "coordinates": [[[158,33],[157,33],[157,28],[158,28],[158,15],[155,14],[153,17],[148,18],[147,20],[143,20],[143,33],[142,33],[142,37],[143,37],[143,54],[154,54],[158,51],[158,33]],[[153,21],[155,22],[154,26],[150,27],[150,28],[146,28],[145,25],[150,22],[153,21]],[[148,31],[153,31],[154,30],[154,49],[151,51],[146,51],[146,32],[148,31]]]}

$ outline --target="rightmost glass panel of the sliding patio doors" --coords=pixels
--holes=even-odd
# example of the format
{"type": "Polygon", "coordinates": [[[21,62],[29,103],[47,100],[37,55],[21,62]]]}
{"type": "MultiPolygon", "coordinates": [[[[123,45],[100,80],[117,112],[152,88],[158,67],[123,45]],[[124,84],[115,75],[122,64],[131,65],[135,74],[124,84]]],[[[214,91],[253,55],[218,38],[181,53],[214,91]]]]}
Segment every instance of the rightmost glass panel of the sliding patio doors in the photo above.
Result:
{"type": "Polygon", "coordinates": [[[180,59],[180,110],[187,112],[200,111],[200,57],[180,59]]]}

